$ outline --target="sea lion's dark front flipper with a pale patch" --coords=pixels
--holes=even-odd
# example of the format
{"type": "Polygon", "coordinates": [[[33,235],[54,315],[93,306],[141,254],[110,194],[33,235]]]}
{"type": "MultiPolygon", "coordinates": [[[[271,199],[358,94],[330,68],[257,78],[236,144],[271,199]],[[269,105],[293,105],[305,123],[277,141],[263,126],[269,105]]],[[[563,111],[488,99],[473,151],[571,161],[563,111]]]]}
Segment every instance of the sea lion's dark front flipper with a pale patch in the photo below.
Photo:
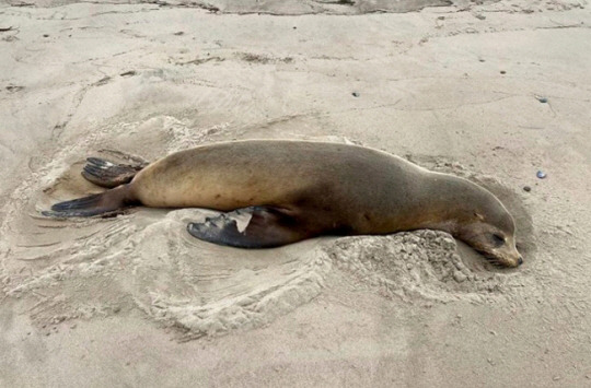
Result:
{"type": "Polygon", "coordinates": [[[273,248],[311,236],[291,212],[273,207],[234,210],[189,223],[187,231],[199,239],[237,248],[273,248]]]}

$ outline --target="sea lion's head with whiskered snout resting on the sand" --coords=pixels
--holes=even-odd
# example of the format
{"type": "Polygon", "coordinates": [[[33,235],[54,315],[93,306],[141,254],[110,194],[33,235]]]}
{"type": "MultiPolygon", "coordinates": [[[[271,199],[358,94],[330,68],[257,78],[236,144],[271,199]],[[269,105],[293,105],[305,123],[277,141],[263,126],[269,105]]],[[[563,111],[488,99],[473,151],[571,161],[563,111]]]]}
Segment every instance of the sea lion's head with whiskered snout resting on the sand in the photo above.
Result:
{"type": "Polygon", "coordinates": [[[493,207],[473,212],[468,222],[457,231],[457,237],[501,267],[519,267],[523,258],[515,245],[515,222],[497,200],[493,207]]]}

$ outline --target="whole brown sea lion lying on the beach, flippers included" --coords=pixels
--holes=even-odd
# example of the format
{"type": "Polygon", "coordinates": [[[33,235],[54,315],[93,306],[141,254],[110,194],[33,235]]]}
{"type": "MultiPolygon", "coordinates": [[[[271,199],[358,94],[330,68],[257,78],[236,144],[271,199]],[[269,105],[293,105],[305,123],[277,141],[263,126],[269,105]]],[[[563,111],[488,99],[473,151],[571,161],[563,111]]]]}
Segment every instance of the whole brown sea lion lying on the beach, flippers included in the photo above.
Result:
{"type": "Polygon", "coordinates": [[[114,188],[54,204],[46,215],[91,216],[134,204],[208,208],[227,213],[189,223],[188,233],[242,248],[432,228],[494,263],[523,262],[514,221],[491,192],[369,148],[248,140],[181,151],[146,167],[88,161],[84,177],[114,188]]]}

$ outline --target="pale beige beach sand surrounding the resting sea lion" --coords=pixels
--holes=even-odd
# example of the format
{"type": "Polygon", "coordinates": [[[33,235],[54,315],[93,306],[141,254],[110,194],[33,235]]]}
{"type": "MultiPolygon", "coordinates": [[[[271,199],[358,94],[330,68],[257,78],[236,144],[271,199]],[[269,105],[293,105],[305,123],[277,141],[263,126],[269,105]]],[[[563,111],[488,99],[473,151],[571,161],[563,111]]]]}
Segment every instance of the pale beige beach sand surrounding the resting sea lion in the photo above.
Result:
{"type": "Polygon", "coordinates": [[[591,385],[590,23],[556,0],[2,2],[0,386],[591,385]],[[86,156],[252,138],[475,180],[525,263],[433,231],[252,251],[192,238],[207,210],[39,214],[101,190],[86,156]]]}

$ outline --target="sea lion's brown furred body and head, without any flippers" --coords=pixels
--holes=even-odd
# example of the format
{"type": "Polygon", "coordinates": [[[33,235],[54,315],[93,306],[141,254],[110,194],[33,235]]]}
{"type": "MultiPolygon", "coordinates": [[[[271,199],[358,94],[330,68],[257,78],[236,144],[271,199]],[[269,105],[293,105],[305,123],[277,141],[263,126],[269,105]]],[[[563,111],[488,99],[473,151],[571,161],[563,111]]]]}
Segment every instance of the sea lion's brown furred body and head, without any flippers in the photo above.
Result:
{"type": "MultiPolygon", "coordinates": [[[[303,237],[451,233],[497,263],[517,267],[514,222],[486,189],[357,145],[254,140],[182,151],[119,188],[126,203],[231,211],[268,205],[302,220],[303,237]],[[501,235],[497,246],[493,234],[501,235]]],[[[298,237],[301,239],[302,237],[298,237]]]]}

